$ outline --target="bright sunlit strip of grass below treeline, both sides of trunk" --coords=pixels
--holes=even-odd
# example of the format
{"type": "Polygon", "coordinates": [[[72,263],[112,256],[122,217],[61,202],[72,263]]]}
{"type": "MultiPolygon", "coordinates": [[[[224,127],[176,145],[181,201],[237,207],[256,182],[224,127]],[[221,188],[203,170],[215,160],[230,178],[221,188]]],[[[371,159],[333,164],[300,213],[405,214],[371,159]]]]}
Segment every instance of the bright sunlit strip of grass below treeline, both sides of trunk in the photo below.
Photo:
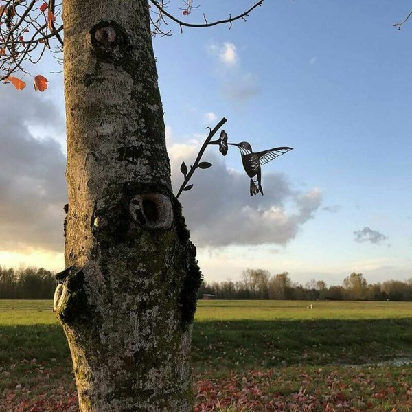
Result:
{"type": "MultiPolygon", "coordinates": [[[[405,319],[412,317],[412,302],[389,301],[198,301],[196,322],[277,320],[405,319]]],[[[53,302],[0,300],[0,325],[57,323],[53,302]]]]}

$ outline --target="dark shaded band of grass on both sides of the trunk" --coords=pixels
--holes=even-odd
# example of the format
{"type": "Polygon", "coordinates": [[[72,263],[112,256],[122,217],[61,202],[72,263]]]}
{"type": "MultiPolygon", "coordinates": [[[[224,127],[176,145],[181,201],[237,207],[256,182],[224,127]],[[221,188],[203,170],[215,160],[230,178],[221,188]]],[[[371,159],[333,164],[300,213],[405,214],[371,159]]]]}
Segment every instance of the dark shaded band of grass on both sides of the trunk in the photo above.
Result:
{"type": "MultiPolygon", "coordinates": [[[[195,369],[373,363],[409,356],[412,319],[202,321],[194,324],[195,369]]],[[[0,365],[52,360],[71,370],[60,325],[0,326],[0,365]]]]}

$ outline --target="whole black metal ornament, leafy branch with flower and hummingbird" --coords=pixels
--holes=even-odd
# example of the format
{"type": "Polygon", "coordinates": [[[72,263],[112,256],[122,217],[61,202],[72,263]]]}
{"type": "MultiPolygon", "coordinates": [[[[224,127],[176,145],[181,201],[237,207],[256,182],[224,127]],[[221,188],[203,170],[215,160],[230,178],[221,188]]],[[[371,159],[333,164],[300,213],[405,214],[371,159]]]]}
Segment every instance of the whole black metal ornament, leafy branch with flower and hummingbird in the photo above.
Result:
{"type": "Polygon", "coordinates": [[[249,144],[247,141],[241,141],[240,143],[229,143],[227,141],[227,133],[225,130],[222,130],[220,132],[220,137],[217,140],[211,140],[214,135],[218,132],[218,130],[227,122],[225,117],[223,117],[222,120],[212,130],[211,128],[208,127],[209,129],[209,135],[207,136],[205,142],[203,143],[201,150],[199,150],[198,155],[196,157],[196,160],[194,161],[194,164],[190,167],[190,169],[187,168],[187,165],[185,162],[181,164],[181,172],[183,173],[183,176],[185,176],[185,179],[183,180],[183,183],[179,189],[179,192],[177,192],[176,198],[179,198],[181,193],[183,191],[187,191],[192,189],[193,185],[189,185],[190,178],[193,176],[194,171],[197,168],[201,169],[208,169],[211,167],[211,163],[207,161],[202,161],[202,156],[203,153],[205,152],[207,146],[209,144],[216,144],[219,146],[219,151],[222,153],[223,156],[226,156],[227,150],[229,149],[229,145],[231,146],[238,146],[240,150],[240,156],[242,157],[242,164],[244,171],[246,174],[249,176],[251,179],[250,183],[250,194],[251,196],[254,196],[255,194],[260,194],[263,195],[263,189],[262,189],[262,165],[268,163],[269,161],[276,159],[278,156],[282,156],[285,153],[289,152],[290,150],[293,150],[293,148],[289,148],[288,146],[282,146],[279,148],[273,148],[273,149],[268,149],[268,150],[263,150],[262,152],[253,152],[251,144],[249,144]]]}

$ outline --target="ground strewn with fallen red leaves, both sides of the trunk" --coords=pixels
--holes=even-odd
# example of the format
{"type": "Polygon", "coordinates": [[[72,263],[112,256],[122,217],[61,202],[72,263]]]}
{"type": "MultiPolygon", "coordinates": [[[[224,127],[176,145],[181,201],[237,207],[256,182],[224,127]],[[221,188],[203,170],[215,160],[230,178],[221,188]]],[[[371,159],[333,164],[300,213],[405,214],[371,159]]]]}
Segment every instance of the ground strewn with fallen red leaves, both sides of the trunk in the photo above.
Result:
{"type": "MultiPolygon", "coordinates": [[[[21,383],[10,380],[0,411],[78,411],[70,373],[32,359],[2,376],[17,367],[21,383]]],[[[294,366],[195,374],[194,411],[412,411],[411,372],[409,366],[294,366]]]]}

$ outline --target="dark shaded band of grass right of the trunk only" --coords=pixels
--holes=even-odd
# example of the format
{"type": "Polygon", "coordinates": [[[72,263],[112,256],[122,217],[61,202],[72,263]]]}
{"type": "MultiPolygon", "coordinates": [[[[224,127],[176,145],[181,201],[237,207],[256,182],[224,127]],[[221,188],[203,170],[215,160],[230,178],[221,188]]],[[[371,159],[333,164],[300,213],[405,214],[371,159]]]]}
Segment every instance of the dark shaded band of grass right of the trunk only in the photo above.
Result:
{"type": "Polygon", "coordinates": [[[203,321],[194,324],[196,369],[362,364],[412,353],[412,319],[203,321]]]}

